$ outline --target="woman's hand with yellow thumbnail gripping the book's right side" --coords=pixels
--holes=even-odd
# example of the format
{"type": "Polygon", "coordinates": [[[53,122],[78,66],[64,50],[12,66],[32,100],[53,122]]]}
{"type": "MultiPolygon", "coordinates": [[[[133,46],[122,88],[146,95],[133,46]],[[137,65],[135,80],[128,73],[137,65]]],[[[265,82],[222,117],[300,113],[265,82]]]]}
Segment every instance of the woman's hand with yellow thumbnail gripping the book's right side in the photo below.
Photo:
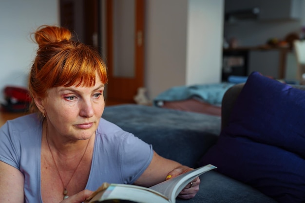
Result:
{"type": "MultiPolygon", "coordinates": [[[[179,166],[175,169],[173,169],[171,172],[168,173],[168,176],[166,177],[166,180],[169,180],[171,178],[174,178],[178,175],[181,175],[183,173],[186,173],[188,171],[193,170],[193,168],[190,168],[188,166],[179,166]]],[[[199,177],[196,177],[191,183],[189,183],[178,195],[179,198],[188,200],[197,194],[199,191],[199,184],[200,184],[200,179],[199,177]]]]}

